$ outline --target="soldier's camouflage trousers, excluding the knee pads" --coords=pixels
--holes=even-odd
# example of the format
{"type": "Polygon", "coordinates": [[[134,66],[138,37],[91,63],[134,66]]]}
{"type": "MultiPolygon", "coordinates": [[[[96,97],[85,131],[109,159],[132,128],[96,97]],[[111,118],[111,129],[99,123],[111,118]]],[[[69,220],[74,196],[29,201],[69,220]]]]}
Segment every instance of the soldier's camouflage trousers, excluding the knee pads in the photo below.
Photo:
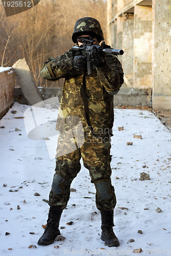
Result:
{"type": "MultiPolygon", "coordinates": [[[[75,139],[75,143],[77,140],[75,139]]],[[[70,137],[68,133],[61,134],[58,139],[57,154],[61,155],[58,151],[65,152],[70,144],[70,137]]],[[[109,179],[111,177],[111,155],[110,155],[110,137],[95,138],[92,136],[91,131],[85,133],[85,142],[76,151],[72,151],[66,155],[61,155],[56,158],[56,174],[60,174],[66,181],[71,181],[80,172],[81,164],[80,159],[82,157],[84,166],[89,170],[91,182],[96,180],[109,179]]],[[[110,190],[112,190],[110,185],[110,190]]],[[[49,204],[51,206],[57,206],[64,209],[69,200],[70,191],[67,190],[66,194],[55,195],[53,191],[50,192],[49,204]]],[[[114,209],[116,204],[115,194],[112,193],[110,200],[103,201],[99,199],[96,194],[96,207],[99,210],[111,210],[114,209]]]]}

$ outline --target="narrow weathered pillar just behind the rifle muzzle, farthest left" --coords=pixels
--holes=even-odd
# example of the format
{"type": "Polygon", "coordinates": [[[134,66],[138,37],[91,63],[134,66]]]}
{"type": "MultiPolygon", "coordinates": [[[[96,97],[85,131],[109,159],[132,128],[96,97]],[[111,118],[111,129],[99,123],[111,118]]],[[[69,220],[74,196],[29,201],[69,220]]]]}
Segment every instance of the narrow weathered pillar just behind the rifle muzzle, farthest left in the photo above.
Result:
{"type": "Polygon", "coordinates": [[[134,14],[123,15],[123,69],[124,80],[127,87],[133,87],[134,66],[134,14]]]}

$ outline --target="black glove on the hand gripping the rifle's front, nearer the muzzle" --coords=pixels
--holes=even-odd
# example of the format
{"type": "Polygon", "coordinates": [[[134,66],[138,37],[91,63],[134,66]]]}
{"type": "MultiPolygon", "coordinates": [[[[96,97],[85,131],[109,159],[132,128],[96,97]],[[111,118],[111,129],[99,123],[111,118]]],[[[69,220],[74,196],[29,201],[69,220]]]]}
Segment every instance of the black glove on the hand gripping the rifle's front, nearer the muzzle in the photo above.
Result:
{"type": "Polygon", "coordinates": [[[96,67],[102,67],[105,65],[106,60],[103,57],[103,50],[97,49],[95,46],[91,46],[90,51],[90,63],[96,67]]]}

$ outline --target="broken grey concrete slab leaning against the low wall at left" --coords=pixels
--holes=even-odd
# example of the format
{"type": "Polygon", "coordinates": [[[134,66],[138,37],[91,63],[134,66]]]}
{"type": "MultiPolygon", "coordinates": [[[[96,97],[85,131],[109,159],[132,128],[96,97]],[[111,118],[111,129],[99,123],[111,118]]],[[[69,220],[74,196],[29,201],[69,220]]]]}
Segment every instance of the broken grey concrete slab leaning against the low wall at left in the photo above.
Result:
{"type": "Polygon", "coordinates": [[[42,101],[41,94],[36,87],[25,58],[17,60],[12,67],[19,79],[19,84],[27,103],[34,105],[42,101]]]}

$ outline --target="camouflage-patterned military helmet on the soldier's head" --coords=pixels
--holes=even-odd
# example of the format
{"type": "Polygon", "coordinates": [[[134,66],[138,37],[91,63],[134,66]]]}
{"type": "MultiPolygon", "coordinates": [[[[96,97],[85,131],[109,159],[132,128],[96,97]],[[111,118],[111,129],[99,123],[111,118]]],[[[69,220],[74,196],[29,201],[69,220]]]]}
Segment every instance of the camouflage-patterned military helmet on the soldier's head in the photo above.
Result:
{"type": "Polygon", "coordinates": [[[72,41],[77,42],[77,37],[84,34],[95,36],[99,41],[104,40],[99,21],[92,17],[83,17],[77,20],[74,32],[72,33],[72,41]]]}

